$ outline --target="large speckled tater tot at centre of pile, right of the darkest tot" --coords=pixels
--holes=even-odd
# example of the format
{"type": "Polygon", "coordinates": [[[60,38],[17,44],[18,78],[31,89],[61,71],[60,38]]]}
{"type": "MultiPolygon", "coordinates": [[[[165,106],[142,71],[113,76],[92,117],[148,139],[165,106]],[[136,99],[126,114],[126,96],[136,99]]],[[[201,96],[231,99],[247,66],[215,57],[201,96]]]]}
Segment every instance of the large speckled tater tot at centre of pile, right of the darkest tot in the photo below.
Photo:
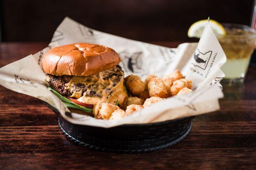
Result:
{"type": "Polygon", "coordinates": [[[166,98],[168,97],[168,92],[165,86],[165,83],[162,79],[160,78],[153,78],[150,80],[150,82],[148,82],[148,92],[149,92],[149,96],[153,97],[162,97],[162,98],[166,98]]]}

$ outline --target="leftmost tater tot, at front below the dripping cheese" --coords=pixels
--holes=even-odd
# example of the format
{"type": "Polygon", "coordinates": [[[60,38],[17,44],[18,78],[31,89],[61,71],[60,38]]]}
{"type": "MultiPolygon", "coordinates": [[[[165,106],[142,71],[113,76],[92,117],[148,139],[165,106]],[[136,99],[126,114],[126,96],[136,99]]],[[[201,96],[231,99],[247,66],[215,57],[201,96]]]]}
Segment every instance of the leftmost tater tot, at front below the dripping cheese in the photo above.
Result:
{"type": "Polygon", "coordinates": [[[109,103],[101,103],[99,106],[99,113],[97,115],[98,119],[109,119],[109,117],[111,116],[111,114],[117,110],[120,109],[118,106],[116,105],[112,105],[109,103]]]}

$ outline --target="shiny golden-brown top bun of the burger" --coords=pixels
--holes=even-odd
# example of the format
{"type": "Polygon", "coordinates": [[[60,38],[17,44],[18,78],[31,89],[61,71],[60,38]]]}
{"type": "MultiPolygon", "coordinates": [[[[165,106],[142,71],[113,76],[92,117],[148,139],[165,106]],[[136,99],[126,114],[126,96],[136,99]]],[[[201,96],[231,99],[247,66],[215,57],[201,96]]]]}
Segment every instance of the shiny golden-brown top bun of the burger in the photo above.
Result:
{"type": "Polygon", "coordinates": [[[89,43],[74,43],[49,50],[42,59],[47,74],[88,76],[115,67],[120,56],[111,48],[89,43]]]}

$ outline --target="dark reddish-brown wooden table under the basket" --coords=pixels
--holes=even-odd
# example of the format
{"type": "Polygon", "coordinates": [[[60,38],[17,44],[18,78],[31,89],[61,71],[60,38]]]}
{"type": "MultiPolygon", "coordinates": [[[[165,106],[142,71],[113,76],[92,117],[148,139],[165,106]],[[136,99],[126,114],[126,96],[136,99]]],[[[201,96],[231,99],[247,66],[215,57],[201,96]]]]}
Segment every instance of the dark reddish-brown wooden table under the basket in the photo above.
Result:
{"type": "MultiPolygon", "coordinates": [[[[0,67],[46,45],[0,43],[0,67]]],[[[221,110],[197,116],[180,143],[153,153],[116,154],[74,144],[42,101],[0,86],[0,169],[256,169],[256,67],[250,66],[244,86],[224,87],[224,93],[221,110]]]]}

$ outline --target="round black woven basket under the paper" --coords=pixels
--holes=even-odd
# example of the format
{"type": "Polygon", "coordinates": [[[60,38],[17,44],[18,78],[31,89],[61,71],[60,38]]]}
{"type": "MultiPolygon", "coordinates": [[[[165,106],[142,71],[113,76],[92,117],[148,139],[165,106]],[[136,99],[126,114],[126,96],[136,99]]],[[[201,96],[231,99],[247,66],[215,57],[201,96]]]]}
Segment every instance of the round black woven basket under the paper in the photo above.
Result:
{"type": "Polygon", "coordinates": [[[59,111],[46,105],[59,116],[59,127],[72,141],[94,150],[118,153],[151,152],[172,146],[188,135],[194,119],[191,116],[165,122],[92,127],[68,122],[59,111]]]}

